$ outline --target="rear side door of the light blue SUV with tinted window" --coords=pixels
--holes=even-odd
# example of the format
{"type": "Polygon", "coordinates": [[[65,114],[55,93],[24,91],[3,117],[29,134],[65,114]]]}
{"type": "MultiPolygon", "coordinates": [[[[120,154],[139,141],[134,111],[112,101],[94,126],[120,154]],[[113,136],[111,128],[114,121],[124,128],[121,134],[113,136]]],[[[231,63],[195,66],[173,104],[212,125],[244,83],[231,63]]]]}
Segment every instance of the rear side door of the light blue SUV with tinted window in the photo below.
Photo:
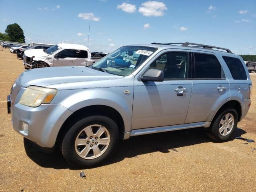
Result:
{"type": "Polygon", "coordinates": [[[230,98],[229,81],[216,55],[193,51],[193,88],[185,123],[211,121],[212,116],[230,98]]]}

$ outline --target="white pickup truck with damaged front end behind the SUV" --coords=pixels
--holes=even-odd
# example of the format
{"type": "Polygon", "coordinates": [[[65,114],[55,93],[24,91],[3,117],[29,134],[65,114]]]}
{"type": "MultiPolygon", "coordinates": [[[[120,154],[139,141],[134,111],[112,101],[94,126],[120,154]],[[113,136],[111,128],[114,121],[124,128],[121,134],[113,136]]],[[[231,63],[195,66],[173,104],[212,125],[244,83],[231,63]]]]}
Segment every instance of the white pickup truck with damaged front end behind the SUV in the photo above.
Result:
{"type": "Polygon", "coordinates": [[[94,57],[83,45],[60,43],[48,49],[26,50],[23,65],[26,69],[57,66],[91,66],[101,58],[94,57]]]}

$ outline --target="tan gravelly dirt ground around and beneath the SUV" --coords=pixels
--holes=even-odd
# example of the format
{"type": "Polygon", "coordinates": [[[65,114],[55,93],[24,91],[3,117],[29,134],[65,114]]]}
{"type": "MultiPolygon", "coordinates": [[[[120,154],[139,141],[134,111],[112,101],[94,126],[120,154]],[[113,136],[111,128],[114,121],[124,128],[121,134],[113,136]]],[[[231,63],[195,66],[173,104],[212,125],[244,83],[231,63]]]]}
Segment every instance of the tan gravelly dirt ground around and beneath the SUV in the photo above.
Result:
{"type": "MultiPolygon", "coordinates": [[[[201,129],[121,141],[108,162],[91,169],[70,166],[58,152],[38,152],[14,132],[6,110],[6,96],[23,70],[22,60],[0,48],[0,191],[256,191],[256,143],[216,143],[201,129]]],[[[236,136],[256,140],[256,74],[251,78],[252,105],[236,136]]]]}

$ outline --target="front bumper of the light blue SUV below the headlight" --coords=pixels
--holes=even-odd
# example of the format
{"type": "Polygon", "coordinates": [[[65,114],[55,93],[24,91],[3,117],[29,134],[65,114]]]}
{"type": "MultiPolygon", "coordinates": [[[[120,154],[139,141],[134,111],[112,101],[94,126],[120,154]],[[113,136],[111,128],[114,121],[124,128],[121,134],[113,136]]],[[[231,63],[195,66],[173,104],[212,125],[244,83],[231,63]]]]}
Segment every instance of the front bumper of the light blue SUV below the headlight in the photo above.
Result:
{"type": "Polygon", "coordinates": [[[16,103],[12,107],[12,124],[16,132],[43,148],[52,148],[65,120],[72,114],[58,104],[42,104],[28,107],[16,103]],[[24,131],[22,124],[28,124],[24,131]]]}

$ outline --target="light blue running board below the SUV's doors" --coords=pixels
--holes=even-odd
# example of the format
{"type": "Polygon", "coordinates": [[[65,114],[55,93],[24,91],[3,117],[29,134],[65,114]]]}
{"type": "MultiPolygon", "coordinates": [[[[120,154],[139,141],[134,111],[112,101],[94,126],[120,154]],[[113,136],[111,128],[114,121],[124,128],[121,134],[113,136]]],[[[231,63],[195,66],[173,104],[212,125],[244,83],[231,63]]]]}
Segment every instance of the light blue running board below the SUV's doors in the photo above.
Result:
{"type": "Polygon", "coordinates": [[[197,122],[197,123],[189,123],[189,124],[180,124],[180,125],[172,125],[172,126],[163,126],[163,127],[152,127],[152,128],[144,128],[144,129],[135,129],[131,132],[124,133],[124,139],[128,139],[132,136],[152,134],[152,133],[161,133],[182,129],[190,129],[196,127],[209,127],[211,122],[197,122]]]}

